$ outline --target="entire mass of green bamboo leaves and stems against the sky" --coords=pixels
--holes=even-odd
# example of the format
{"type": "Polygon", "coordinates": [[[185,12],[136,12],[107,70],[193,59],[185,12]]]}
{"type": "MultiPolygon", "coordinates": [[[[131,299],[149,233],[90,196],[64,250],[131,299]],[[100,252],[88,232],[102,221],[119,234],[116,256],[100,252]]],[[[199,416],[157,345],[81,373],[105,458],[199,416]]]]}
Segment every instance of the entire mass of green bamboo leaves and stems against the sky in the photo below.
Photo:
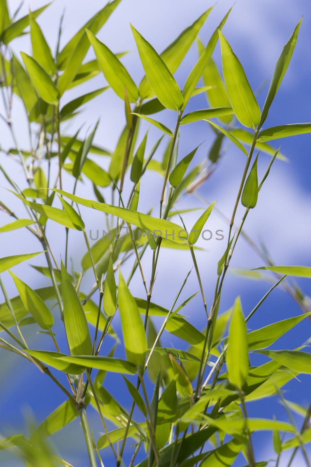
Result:
{"type": "MultiPolygon", "coordinates": [[[[290,63],[300,21],[277,61],[261,111],[242,64],[221,32],[230,10],[215,29],[206,47],[200,42],[198,33],[212,8],[186,28],[160,55],[131,26],[145,70],[145,76],[137,86],[120,61],[124,54],[114,54],[96,37],[119,3],[120,0],[108,3],[87,21],[62,49],[61,22],[57,49],[53,55],[36,22],[36,18],[46,7],[16,20],[18,12],[11,18],[6,0],[0,2],[1,92],[6,113],[1,116],[15,142],[14,148],[4,152],[8,156],[14,156],[21,164],[28,183],[27,188],[21,190],[0,165],[3,175],[11,185],[11,191],[28,213],[25,219],[17,218],[14,212],[0,201],[2,211],[15,218],[13,222],[2,226],[0,232],[25,227],[42,245],[42,251],[39,252],[0,258],[0,273],[8,271],[18,291],[16,297],[9,298],[0,279],[5,298],[5,303],[0,305],[0,327],[2,334],[7,333],[9,336],[8,340],[0,338],[0,346],[35,364],[66,396],[64,402],[39,427],[32,427],[30,437],[18,434],[1,439],[0,449],[18,447],[14,452],[29,466],[69,466],[68,462],[54,455],[47,437],[79,416],[91,467],[97,465],[96,455],[101,465],[104,465],[101,456],[104,457],[105,453],[100,451],[105,448],[111,449],[117,466],[121,463],[124,465],[124,446],[130,438],[135,440],[131,466],[134,465],[141,445],[145,446],[146,452],[145,460],[139,464],[141,467],[230,466],[239,453],[244,455],[249,466],[264,466],[267,462],[256,463],[252,444],[252,433],[258,430],[273,432],[276,463],[284,450],[294,448],[292,460],[297,449],[301,448],[307,465],[310,465],[304,444],[311,441],[311,406],[309,410],[305,410],[285,401],[280,389],[298,374],[311,373],[311,354],[302,351],[302,347],[279,351],[270,350],[268,347],[311,315],[303,292],[296,285],[292,285],[287,277],[311,278],[311,268],[275,266],[270,257],[260,250],[259,253],[268,265],[258,269],[272,271],[277,276],[277,282],[246,318],[239,297],[236,298],[232,309],[219,313],[224,278],[243,224],[249,211],[256,206],[258,193],[269,175],[272,163],[276,157],[285,159],[279,150],[273,149],[267,142],[311,132],[311,123],[262,128],[290,63]],[[29,56],[21,52],[24,67],[19,57],[12,52],[10,42],[27,34],[28,26],[33,53],[29,56]],[[212,59],[218,39],[221,43],[223,78],[212,59]],[[199,59],[181,91],[173,74],[195,40],[198,44],[199,59]],[[90,47],[93,48],[96,59],[84,62],[90,47]],[[69,89],[101,72],[107,80],[107,86],[61,105],[63,96],[69,89]],[[203,86],[196,87],[201,78],[203,86]],[[62,134],[62,123],[71,120],[83,104],[97,97],[108,87],[124,100],[124,128],[112,153],[93,144],[97,124],[84,140],[79,139],[79,132],[73,136],[62,134]],[[201,92],[206,93],[209,107],[184,113],[191,97],[201,92]],[[14,95],[22,100],[27,113],[31,134],[29,150],[20,148],[14,131],[11,120],[14,95]],[[174,131],[149,116],[164,109],[176,112],[174,131]],[[210,120],[215,117],[220,120],[220,124],[210,120]],[[147,134],[138,144],[141,120],[147,120],[164,133],[154,143],[149,155],[145,155],[147,134]],[[207,160],[188,170],[198,147],[178,161],[180,126],[198,120],[207,120],[215,133],[215,139],[207,160]],[[168,138],[168,142],[162,161],[159,162],[153,159],[153,156],[164,137],[168,138]],[[195,192],[216,169],[216,163],[223,154],[223,141],[226,138],[241,150],[246,161],[229,221],[227,248],[217,265],[214,300],[208,311],[204,283],[195,256],[195,252],[200,248],[195,247],[195,243],[215,203],[209,205],[200,215],[189,233],[181,216],[182,226],[172,222],[171,218],[176,214],[173,208],[177,202],[187,193],[195,192]],[[247,150],[244,144],[250,149],[247,150]],[[250,164],[255,149],[272,156],[259,182],[258,154],[252,165],[250,164]],[[104,170],[90,158],[92,154],[109,157],[109,170],[104,170]],[[51,164],[54,162],[58,164],[58,174],[53,184],[51,164]],[[43,170],[45,165],[48,167],[47,173],[43,170]],[[163,178],[163,189],[159,193],[159,217],[153,217],[151,212],[146,214],[138,210],[140,179],[146,170],[154,170],[163,178]],[[73,180],[72,192],[63,190],[64,171],[73,180]],[[122,192],[127,172],[130,174],[132,185],[130,197],[124,204],[122,192]],[[93,184],[96,200],[76,195],[76,189],[83,179],[93,184]],[[117,198],[115,204],[105,203],[106,192],[103,193],[102,189],[108,190],[109,187],[112,194],[115,194],[112,199],[117,198]],[[56,206],[57,203],[59,207],[56,206]],[[236,210],[240,203],[246,210],[239,228],[233,233],[236,210]],[[92,247],[79,206],[106,214],[106,226],[110,235],[99,239],[92,247]],[[64,262],[61,264],[55,260],[48,242],[48,222],[65,227],[66,245],[64,262]],[[130,235],[121,234],[124,224],[127,225],[130,235]],[[78,230],[83,234],[86,251],[81,261],[81,272],[73,271],[72,275],[69,274],[67,265],[70,230],[78,230]],[[167,240],[168,236],[170,240],[167,240]],[[146,285],[141,264],[141,258],[148,247],[152,250],[149,287],[146,285]],[[179,313],[196,294],[177,305],[189,274],[181,284],[170,308],[166,309],[151,301],[158,257],[162,248],[186,249],[192,256],[202,296],[202,312],[206,317],[206,326],[201,331],[179,313]],[[10,269],[43,253],[47,266],[34,268],[47,276],[51,285],[33,290],[10,269]],[[130,259],[133,260],[131,274],[124,280],[122,265],[130,259]],[[95,284],[86,295],[80,288],[89,269],[93,269],[95,284]],[[145,297],[133,297],[129,290],[136,271],[136,280],[140,280],[139,274],[141,276],[145,297]],[[297,301],[303,314],[248,333],[247,321],[280,283],[297,301]],[[97,303],[91,299],[96,292],[97,303]],[[61,353],[53,333],[55,317],[45,303],[50,299],[57,300],[59,318],[63,321],[68,342],[68,354],[61,353]],[[107,356],[100,354],[107,334],[119,343],[111,326],[116,312],[121,319],[125,359],[114,357],[116,345],[107,356]],[[145,318],[142,319],[141,315],[145,318]],[[152,316],[163,319],[159,331],[152,323],[152,316]],[[230,324],[227,336],[228,323],[230,324]],[[28,348],[21,328],[31,324],[39,326],[40,332],[47,335],[47,340],[52,339],[55,352],[28,348]],[[93,339],[90,332],[92,327],[95,329],[93,339]],[[10,328],[14,328],[14,332],[10,328]],[[186,350],[162,347],[161,335],[164,332],[171,333],[183,341],[186,350]],[[251,367],[249,357],[250,352],[254,351],[266,355],[270,360],[262,366],[251,367]],[[224,364],[226,373],[221,373],[224,364]],[[67,387],[57,379],[50,368],[67,375],[67,387]],[[95,369],[98,371],[93,377],[95,369]],[[132,401],[130,412],[105,388],[104,379],[107,372],[122,374],[124,388],[132,401]],[[148,398],[144,380],[147,374],[154,383],[151,400],[148,398]],[[128,378],[124,375],[137,375],[137,384],[131,382],[130,376],[128,378]],[[248,418],[248,401],[262,399],[277,392],[288,410],[303,414],[304,423],[300,433],[291,421],[285,423],[248,418]],[[133,418],[135,406],[143,421],[133,418]],[[103,424],[105,433],[98,439],[91,435],[86,416],[86,408],[89,407],[97,411],[103,424]],[[107,420],[117,428],[109,432],[107,420]],[[283,432],[282,436],[280,432],[283,432]],[[207,441],[209,447],[205,447],[207,441]]],[[[180,209],[179,214],[187,211],[189,210],[180,209]]],[[[253,278],[263,278],[259,271],[237,272],[253,278]]]]}

